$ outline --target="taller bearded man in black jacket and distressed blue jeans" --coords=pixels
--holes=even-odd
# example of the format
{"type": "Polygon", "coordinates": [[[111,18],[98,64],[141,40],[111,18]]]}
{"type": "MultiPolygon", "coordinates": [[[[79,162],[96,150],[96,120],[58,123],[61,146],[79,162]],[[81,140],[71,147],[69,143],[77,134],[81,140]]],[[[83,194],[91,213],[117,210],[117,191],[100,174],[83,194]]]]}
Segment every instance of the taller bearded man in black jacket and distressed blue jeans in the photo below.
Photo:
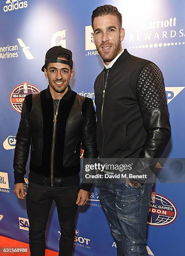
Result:
{"type": "Polygon", "coordinates": [[[100,6],[91,18],[94,44],[104,61],[94,84],[100,158],[139,159],[134,171],[148,175],[121,184],[107,178],[97,182],[97,190],[117,255],[147,256],[147,216],[155,181],[147,159],[159,158],[171,136],[164,80],[154,63],[122,49],[124,28],[116,7],[100,6]]]}

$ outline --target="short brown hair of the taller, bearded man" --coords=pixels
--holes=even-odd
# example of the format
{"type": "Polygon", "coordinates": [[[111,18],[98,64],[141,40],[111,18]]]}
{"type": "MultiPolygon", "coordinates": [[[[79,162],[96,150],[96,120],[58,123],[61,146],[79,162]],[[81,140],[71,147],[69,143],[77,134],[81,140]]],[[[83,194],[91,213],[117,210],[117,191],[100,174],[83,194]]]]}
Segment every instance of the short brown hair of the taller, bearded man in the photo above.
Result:
{"type": "Polygon", "coordinates": [[[122,28],[122,14],[113,5],[102,5],[102,6],[97,7],[93,11],[92,16],[91,16],[92,27],[93,27],[94,18],[99,17],[99,16],[108,15],[108,14],[117,16],[117,18],[119,20],[119,26],[120,26],[120,28],[122,28]]]}

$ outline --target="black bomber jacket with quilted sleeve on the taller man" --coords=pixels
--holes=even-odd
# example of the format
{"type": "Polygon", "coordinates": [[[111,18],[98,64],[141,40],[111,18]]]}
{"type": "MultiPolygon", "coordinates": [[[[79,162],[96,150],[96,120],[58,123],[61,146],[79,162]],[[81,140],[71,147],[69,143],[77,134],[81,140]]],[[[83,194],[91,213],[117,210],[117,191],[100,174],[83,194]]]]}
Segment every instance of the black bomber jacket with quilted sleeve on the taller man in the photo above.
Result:
{"type": "Polygon", "coordinates": [[[143,159],[136,170],[146,173],[147,159],[159,158],[171,137],[162,72],[124,49],[96,77],[94,91],[100,158],[143,159]]]}

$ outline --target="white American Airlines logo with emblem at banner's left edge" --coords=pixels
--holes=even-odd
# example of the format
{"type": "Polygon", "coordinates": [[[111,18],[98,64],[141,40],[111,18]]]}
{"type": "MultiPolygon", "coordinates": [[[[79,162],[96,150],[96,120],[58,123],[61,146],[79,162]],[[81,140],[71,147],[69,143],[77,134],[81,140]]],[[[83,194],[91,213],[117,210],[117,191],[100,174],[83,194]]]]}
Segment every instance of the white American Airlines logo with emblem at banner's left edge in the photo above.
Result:
{"type": "MultiPolygon", "coordinates": [[[[17,38],[19,46],[22,48],[22,51],[26,59],[35,59],[30,52],[30,47],[26,46],[21,38],[17,38]]],[[[19,54],[19,47],[17,44],[0,46],[0,59],[11,59],[17,58],[19,54]]]]}

